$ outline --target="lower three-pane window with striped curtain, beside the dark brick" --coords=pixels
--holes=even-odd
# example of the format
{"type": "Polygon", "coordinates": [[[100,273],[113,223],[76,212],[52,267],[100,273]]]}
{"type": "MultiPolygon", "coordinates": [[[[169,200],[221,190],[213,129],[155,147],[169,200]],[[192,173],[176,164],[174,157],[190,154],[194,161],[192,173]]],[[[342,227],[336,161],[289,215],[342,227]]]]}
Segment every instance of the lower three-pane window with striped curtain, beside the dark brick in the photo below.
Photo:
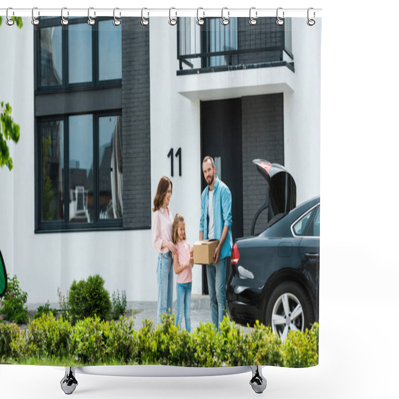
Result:
{"type": "Polygon", "coordinates": [[[121,226],[121,116],[43,119],[39,132],[40,227],[121,226]]]}

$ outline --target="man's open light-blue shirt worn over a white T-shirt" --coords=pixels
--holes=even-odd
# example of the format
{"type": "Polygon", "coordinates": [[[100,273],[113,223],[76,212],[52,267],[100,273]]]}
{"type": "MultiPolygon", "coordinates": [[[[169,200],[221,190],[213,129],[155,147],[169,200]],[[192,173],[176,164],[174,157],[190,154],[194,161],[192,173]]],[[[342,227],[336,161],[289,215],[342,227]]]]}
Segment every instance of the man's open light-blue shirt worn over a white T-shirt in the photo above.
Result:
{"type": "MultiPolygon", "coordinates": [[[[208,203],[209,203],[209,188],[206,187],[201,194],[201,218],[200,231],[203,231],[203,238],[208,238],[208,203]]],[[[227,237],[223,242],[220,250],[219,259],[231,255],[231,248],[233,246],[233,239],[231,237],[231,193],[228,187],[219,179],[215,179],[213,185],[213,233],[214,237],[220,241],[223,226],[228,227],[227,237]]]]}

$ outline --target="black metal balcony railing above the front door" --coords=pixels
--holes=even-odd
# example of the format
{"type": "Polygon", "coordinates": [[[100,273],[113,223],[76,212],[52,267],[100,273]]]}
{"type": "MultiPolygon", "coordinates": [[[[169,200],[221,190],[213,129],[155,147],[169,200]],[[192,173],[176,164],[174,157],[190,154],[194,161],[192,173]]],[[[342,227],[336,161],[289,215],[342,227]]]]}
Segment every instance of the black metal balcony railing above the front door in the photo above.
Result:
{"type": "Polygon", "coordinates": [[[199,26],[195,18],[178,18],[178,74],[287,64],[293,69],[291,19],[279,26],[275,18],[206,18],[199,26]],[[284,55],[286,54],[286,56],[284,55]]]}

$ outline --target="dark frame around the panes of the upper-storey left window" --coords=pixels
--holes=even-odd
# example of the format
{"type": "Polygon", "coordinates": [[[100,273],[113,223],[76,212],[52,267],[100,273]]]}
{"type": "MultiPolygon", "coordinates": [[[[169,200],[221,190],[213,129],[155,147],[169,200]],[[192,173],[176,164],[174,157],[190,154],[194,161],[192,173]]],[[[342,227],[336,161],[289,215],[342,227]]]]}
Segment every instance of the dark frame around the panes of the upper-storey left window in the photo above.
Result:
{"type": "MultiPolygon", "coordinates": [[[[35,59],[36,73],[34,75],[34,91],[35,94],[41,93],[62,93],[71,92],[85,89],[97,89],[97,88],[107,88],[107,87],[120,87],[122,84],[122,78],[119,79],[109,79],[109,80],[99,80],[99,38],[98,38],[98,22],[109,20],[112,21],[110,17],[96,17],[96,23],[91,26],[91,46],[92,46],[92,80],[90,82],[79,82],[79,83],[69,83],[69,60],[68,60],[68,26],[80,23],[87,23],[86,17],[77,17],[68,19],[68,25],[62,25],[59,18],[40,18],[40,24],[34,27],[34,53],[37,55],[35,59]],[[40,29],[49,27],[60,27],[61,37],[62,37],[62,84],[51,85],[51,86],[40,86],[40,29]]],[[[117,27],[116,27],[117,29],[117,27]]],[[[120,27],[121,29],[121,27],[120,27]]]]}

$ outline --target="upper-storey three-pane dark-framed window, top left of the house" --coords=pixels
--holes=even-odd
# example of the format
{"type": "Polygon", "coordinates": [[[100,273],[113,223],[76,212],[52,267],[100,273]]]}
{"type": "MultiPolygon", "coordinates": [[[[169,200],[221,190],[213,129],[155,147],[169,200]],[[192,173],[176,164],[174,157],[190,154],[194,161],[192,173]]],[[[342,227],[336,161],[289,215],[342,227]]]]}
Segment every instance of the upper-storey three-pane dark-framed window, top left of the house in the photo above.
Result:
{"type": "Polygon", "coordinates": [[[98,87],[122,79],[122,27],[112,19],[44,18],[35,27],[37,46],[36,89],[39,91],[98,87]]]}

